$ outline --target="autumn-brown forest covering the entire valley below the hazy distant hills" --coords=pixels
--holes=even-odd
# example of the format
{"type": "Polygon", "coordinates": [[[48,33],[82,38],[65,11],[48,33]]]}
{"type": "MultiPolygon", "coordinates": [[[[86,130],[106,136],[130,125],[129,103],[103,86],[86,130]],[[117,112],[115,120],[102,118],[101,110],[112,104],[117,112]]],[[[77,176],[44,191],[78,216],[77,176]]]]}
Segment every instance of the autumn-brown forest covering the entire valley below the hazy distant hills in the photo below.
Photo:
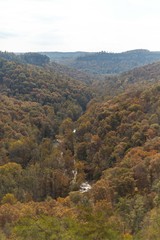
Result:
{"type": "Polygon", "coordinates": [[[160,63],[76,79],[29,55],[0,58],[0,239],[158,240],[160,63]]]}

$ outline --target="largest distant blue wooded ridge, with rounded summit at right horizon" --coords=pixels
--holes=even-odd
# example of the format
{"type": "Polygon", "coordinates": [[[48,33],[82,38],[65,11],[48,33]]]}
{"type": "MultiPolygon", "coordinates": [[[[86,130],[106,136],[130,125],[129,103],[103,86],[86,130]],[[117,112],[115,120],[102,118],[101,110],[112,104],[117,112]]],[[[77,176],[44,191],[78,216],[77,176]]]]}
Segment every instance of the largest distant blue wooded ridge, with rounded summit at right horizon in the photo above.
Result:
{"type": "Polygon", "coordinates": [[[133,50],[122,53],[100,52],[78,57],[69,65],[94,74],[117,74],[160,61],[160,52],[133,50]]]}

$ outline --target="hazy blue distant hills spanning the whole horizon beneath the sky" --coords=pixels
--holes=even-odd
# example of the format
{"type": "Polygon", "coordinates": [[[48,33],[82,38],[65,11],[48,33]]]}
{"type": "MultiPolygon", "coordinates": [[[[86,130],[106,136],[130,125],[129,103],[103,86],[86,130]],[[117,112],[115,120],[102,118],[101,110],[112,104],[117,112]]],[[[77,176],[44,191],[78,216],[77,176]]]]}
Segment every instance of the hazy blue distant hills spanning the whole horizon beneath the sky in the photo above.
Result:
{"type": "MultiPolygon", "coordinates": [[[[149,50],[131,50],[122,53],[108,52],[42,52],[42,53],[0,53],[0,56],[7,60],[19,61],[43,66],[49,63],[49,60],[60,65],[68,66],[65,68],[77,69],[81,72],[90,74],[119,74],[131,69],[144,66],[150,63],[160,61],[160,52],[149,50]]],[[[63,68],[61,66],[61,69],[63,68]]],[[[59,66],[60,68],[60,66],[59,66]]],[[[63,70],[64,71],[64,70],[63,70]]],[[[78,72],[77,72],[78,73],[78,72]]],[[[78,74],[79,75],[79,74],[78,74]]]]}

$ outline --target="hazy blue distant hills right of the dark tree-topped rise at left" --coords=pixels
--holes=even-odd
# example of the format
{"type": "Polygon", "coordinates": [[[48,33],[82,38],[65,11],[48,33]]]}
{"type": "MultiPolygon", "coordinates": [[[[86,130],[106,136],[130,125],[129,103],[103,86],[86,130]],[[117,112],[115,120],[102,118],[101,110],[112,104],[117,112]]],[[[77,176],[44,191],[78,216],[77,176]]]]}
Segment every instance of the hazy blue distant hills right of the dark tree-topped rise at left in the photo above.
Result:
{"type": "Polygon", "coordinates": [[[160,52],[137,49],[110,52],[46,52],[51,61],[92,74],[119,74],[136,67],[160,61],[160,52]]]}

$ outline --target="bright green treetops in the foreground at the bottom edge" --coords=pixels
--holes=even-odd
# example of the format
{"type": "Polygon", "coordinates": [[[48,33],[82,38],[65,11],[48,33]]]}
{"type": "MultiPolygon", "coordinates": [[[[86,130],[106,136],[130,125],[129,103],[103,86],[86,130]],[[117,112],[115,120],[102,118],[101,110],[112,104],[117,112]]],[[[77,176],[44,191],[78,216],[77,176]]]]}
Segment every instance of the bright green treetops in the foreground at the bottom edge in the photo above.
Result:
{"type": "Polygon", "coordinates": [[[117,227],[114,229],[113,225],[105,223],[104,220],[103,216],[98,215],[88,216],[87,222],[41,215],[35,218],[22,218],[14,228],[14,233],[19,240],[35,238],[38,240],[121,240],[117,227]]]}

